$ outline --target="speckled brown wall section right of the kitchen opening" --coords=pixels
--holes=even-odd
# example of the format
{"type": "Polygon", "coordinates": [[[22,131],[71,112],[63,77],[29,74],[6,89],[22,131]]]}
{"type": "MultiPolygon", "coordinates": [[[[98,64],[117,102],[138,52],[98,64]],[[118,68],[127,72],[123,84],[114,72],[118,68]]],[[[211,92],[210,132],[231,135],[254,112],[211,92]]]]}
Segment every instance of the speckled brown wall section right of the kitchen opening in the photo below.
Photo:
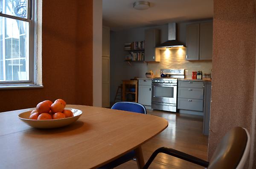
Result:
{"type": "Polygon", "coordinates": [[[255,30],[255,0],[214,0],[209,159],[232,127],[250,132],[255,30]]]}

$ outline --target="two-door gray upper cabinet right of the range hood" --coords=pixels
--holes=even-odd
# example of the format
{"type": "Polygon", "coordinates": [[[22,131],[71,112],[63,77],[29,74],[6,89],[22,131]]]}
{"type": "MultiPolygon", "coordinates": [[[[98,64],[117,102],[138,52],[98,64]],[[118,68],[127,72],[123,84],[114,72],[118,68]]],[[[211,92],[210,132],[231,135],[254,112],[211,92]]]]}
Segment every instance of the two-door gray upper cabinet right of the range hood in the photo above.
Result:
{"type": "Polygon", "coordinates": [[[186,27],[186,60],[212,60],[212,22],[186,27]]]}

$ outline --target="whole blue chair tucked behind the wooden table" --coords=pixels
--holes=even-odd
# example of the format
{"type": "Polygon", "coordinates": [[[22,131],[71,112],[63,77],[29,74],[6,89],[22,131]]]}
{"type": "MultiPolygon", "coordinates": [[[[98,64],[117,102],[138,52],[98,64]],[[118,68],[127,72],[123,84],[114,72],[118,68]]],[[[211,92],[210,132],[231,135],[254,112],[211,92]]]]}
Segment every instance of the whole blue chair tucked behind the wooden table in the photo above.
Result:
{"type": "MultiPolygon", "coordinates": [[[[117,102],[111,107],[111,109],[147,114],[145,106],[143,106],[140,103],[134,103],[134,102],[117,102]]],[[[119,157],[116,160],[113,160],[110,163],[99,167],[98,169],[112,169],[134,158],[135,158],[135,152],[134,150],[132,150],[131,152],[126,153],[122,157],[119,157]]]]}

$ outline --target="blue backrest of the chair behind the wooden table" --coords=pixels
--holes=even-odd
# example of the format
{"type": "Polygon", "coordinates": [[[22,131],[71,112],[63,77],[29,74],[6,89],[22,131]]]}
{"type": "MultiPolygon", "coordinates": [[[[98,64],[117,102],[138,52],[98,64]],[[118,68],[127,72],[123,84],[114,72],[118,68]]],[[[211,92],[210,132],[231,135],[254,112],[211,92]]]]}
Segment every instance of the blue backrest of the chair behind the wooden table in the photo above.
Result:
{"type": "Polygon", "coordinates": [[[145,106],[134,102],[117,102],[111,107],[111,109],[147,114],[145,106]]]}

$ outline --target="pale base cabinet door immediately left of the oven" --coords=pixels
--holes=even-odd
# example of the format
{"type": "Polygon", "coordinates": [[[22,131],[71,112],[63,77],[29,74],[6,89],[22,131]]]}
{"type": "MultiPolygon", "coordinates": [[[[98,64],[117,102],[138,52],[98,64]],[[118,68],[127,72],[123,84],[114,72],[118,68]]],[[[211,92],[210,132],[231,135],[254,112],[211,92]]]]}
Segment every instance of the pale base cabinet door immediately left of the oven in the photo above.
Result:
{"type": "Polygon", "coordinates": [[[151,86],[139,85],[139,103],[151,106],[151,86]]]}

